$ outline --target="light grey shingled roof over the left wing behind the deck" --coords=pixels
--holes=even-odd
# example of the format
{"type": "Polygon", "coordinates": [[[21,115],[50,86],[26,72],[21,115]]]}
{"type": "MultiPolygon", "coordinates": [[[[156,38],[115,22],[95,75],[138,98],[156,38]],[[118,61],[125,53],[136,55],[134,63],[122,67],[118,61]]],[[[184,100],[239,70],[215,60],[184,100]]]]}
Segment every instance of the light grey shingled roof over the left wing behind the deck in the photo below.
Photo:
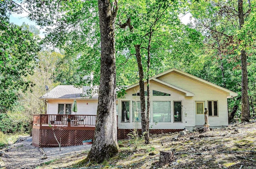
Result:
{"type": "MultiPolygon", "coordinates": [[[[82,88],[76,88],[73,85],[58,85],[52,90],[44,94],[40,99],[88,99],[90,97],[82,97],[82,88]]],[[[98,98],[98,94],[92,96],[98,98]]]]}

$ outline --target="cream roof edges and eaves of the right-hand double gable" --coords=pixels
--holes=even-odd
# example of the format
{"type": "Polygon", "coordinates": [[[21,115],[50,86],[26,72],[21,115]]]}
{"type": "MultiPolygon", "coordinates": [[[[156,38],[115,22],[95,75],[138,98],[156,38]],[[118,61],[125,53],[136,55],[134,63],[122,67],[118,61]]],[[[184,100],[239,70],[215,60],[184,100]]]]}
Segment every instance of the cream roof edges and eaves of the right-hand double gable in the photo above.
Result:
{"type": "MultiPolygon", "coordinates": [[[[203,83],[203,84],[205,84],[205,85],[209,85],[209,86],[211,86],[211,87],[213,87],[213,88],[216,88],[216,89],[218,89],[218,90],[222,90],[222,91],[224,91],[224,92],[227,92],[227,93],[228,93],[228,96],[230,96],[230,97],[231,97],[231,96],[237,96],[237,95],[238,95],[236,92],[232,92],[231,90],[228,90],[228,89],[223,88],[223,87],[221,87],[221,86],[215,85],[215,84],[213,84],[213,83],[210,83],[210,82],[208,82],[208,81],[205,81],[204,79],[201,79],[201,78],[199,78],[199,77],[190,75],[189,73],[186,73],[186,72],[184,72],[184,71],[180,71],[180,70],[175,69],[175,68],[172,68],[172,69],[170,69],[170,70],[168,70],[168,71],[164,71],[164,72],[162,72],[162,73],[160,73],[160,74],[158,74],[158,75],[155,75],[155,76],[153,76],[153,77],[150,77],[149,80],[154,80],[154,81],[156,81],[156,82],[158,82],[158,83],[161,83],[161,84],[163,84],[163,85],[166,85],[166,86],[169,86],[169,87],[171,87],[171,88],[174,88],[174,89],[176,89],[176,90],[178,90],[178,91],[180,91],[180,92],[185,93],[185,96],[194,96],[194,94],[193,94],[192,92],[189,92],[189,91],[187,91],[187,90],[184,90],[184,89],[182,89],[182,88],[179,88],[179,87],[177,87],[177,86],[174,86],[174,85],[172,85],[172,84],[170,84],[170,83],[166,83],[166,82],[164,82],[164,81],[161,81],[161,80],[157,79],[158,77],[161,77],[161,76],[166,75],[166,74],[171,73],[171,72],[178,73],[178,74],[180,74],[180,75],[182,75],[182,76],[188,77],[188,78],[190,78],[190,79],[193,79],[193,80],[198,81],[198,82],[200,82],[200,83],[203,83]]],[[[146,82],[146,81],[144,81],[144,83],[145,83],[145,82],[146,82]]],[[[133,88],[133,87],[135,87],[135,86],[138,86],[138,85],[139,85],[139,83],[136,83],[136,84],[134,84],[134,85],[128,86],[128,87],[126,88],[126,90],[127,90],[127,89],[130,89],[130,88],[133,88]]]]}

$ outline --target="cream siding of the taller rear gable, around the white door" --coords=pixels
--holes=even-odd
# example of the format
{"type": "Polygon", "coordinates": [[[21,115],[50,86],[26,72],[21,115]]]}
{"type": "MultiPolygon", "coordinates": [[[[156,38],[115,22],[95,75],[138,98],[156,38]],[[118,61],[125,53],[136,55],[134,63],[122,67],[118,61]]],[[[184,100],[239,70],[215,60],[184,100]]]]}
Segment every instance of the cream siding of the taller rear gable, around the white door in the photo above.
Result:
{"type": "Polygon", "coordinates": [[[218,100],[218,117],[209,116],[209,124],[211,126],[228,125],[227,93],[174,72],[158,77],[158,79],[194,93],[195,96],[192,99],[205,101],[206,107],[208,107],[208,100],[218,100]]]}

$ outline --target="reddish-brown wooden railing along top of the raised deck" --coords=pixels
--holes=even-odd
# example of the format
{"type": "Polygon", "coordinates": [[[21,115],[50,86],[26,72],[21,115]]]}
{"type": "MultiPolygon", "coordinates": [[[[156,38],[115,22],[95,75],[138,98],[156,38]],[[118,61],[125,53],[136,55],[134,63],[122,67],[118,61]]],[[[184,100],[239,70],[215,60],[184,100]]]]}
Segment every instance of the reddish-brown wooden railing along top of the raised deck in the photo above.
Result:
{"type": "Polygon", "coordinates": [[[82,114],[35,114],[34,125],[95,126],[96,115],[82,114]]]}

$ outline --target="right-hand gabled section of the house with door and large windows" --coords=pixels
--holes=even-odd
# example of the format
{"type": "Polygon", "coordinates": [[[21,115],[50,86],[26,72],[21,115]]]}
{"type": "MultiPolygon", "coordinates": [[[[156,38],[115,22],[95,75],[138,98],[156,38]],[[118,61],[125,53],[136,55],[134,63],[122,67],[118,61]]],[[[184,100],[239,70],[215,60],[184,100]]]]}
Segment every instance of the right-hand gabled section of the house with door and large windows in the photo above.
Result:
{"type": "MultiPolygon", "coordinates": [[[[140,116],[138,95],[139,83],[136,83],[126,88],[125,98],[118,99],[118,130],[134,128],[134,123],[140,122],[137,118],[140,116]]],[[[160,73],[150,78],[151,132],[201,127],[204,108],[208,108],[210,127],[227,126],[227,98],[233,96],[237,93],[178,69],[160,73]]],[[[141,127],[140,123],[136,125],[141,127]]]]}

